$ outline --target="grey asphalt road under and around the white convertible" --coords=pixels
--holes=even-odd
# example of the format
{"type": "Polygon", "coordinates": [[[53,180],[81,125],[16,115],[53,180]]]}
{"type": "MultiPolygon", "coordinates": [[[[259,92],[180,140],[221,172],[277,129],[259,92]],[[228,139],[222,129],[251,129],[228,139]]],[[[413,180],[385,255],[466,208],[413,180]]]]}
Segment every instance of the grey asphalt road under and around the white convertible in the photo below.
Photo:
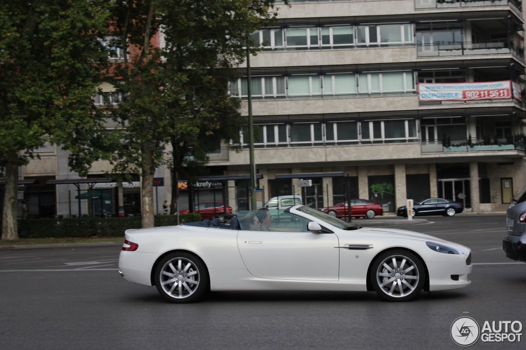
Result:
{"type": "MultiPolygon", "coordinates": [[[[504,215],[427,219],[396,228],[469,246],[472,284],[423,292],[409,303],[383,302],[372,292],[216,292],[173,305],[155,287],[118,275],[119,246],[1,250],[0,349],[454,349],[450,327],[461,316],[480,326],[526,327],[526,264],[504,256],[504,215]]],[[[471,348],[524,342],[479,340],[471,348]]]]}

